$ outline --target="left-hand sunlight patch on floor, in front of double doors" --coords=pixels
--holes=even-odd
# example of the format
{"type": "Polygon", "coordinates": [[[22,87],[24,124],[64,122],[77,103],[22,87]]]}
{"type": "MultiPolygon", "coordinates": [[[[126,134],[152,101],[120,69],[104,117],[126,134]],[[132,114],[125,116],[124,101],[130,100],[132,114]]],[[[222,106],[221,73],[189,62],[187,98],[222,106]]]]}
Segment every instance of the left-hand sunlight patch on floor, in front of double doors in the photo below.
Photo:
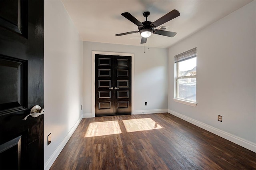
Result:
{"type": "Polygon", "coordinates": [[[122,133],[122,130],[118,121],[95,122],[89,124],[84,137],[88,138],[120,133],[122,133]]]}

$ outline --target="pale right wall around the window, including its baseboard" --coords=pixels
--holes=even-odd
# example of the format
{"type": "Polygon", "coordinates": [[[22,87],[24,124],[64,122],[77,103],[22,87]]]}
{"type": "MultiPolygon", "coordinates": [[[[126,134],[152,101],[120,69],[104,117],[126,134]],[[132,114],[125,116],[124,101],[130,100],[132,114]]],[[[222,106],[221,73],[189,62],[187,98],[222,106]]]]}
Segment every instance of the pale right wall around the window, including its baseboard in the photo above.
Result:
{"type": "Polygon", "coordinates": [[[169,112],[256,152],[256,1],[169,48],[169,112]],[[197,47],[198,105],[173,101],[174,55],[197,47]],[[223,121],[217,121],[217,115],[223,121]],[[227,137],[229,136],[229,137],[227,137]]]}

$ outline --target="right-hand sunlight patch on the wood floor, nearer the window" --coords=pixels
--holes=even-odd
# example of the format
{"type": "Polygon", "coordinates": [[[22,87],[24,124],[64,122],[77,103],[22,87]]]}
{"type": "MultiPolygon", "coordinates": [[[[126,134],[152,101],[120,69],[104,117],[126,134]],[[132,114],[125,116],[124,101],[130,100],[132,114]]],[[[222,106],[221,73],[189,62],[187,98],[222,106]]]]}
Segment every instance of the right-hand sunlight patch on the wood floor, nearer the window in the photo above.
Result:
{"type": "Polygon", "coordinates": [[[153,130],[162,128],[151,118],[123,120],[126,132],[137,132],[142,130],[153,130]]]}

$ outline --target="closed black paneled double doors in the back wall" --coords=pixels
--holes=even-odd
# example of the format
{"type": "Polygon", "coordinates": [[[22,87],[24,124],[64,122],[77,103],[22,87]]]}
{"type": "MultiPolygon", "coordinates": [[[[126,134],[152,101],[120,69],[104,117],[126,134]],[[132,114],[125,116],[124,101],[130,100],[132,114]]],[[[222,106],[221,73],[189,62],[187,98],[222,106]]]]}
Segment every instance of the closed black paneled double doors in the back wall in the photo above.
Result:
{"type": "Polygon", "coordinates": [[[132,112],[132,57],[95,55],[95,116],[132,112]]]}

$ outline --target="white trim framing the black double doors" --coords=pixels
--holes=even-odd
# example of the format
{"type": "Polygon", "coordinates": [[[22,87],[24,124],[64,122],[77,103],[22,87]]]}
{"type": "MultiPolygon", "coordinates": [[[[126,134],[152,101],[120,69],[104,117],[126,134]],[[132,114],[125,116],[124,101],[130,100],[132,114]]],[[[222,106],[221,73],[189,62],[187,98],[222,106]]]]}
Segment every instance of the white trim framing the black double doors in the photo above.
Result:
{"type": "Polygon", "coordinates": [[[95,55],[120,55],[132,57],[132,115],[134,114],[134,53],[92,51],[92,117],[95,117],[95,55]]]}

